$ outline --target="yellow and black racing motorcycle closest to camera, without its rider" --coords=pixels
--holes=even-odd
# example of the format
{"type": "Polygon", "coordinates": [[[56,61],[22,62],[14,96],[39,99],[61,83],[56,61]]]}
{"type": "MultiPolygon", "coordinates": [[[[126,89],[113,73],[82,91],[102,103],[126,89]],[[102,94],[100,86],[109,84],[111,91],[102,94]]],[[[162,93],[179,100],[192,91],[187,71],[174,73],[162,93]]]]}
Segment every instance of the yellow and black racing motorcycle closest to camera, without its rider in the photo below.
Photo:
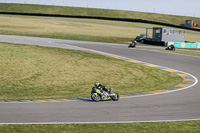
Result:
{"type": "Polygon", "coordinates": [[[108,89],[108,91],[100,90],[95,87],[92,88],[91,98],[93,101],[105,101],[105,100],[113,100],[118,101],[119,95],[116,92],[112,92],[113,88],[108,89]]]}

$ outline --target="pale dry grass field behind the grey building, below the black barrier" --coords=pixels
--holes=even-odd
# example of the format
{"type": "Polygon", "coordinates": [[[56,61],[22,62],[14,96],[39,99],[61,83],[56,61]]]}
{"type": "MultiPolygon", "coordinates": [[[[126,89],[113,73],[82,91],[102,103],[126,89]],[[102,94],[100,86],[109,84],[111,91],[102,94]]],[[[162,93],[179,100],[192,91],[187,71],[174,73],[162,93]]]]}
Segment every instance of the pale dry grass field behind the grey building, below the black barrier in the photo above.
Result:
{"type": "MultiPolygon", "coordinates": [[[[97,20],[88,20],[89,23],[84,20],[83,23],[80,22],[82,19],[13,17],[9,15],[0,15],[0,19],[0,34],[8,35],[129,44],[135,36],[145,33],[144,28],[127,27],[144,26],[139,23],[100,21],[99,24],[97,20]]],[[[146,26],[153,27],[155,25],[146,24],[146,26]]],[[[186,36],[186,40],[200,42],[200,37],[189,34],[186,36]]]]}

